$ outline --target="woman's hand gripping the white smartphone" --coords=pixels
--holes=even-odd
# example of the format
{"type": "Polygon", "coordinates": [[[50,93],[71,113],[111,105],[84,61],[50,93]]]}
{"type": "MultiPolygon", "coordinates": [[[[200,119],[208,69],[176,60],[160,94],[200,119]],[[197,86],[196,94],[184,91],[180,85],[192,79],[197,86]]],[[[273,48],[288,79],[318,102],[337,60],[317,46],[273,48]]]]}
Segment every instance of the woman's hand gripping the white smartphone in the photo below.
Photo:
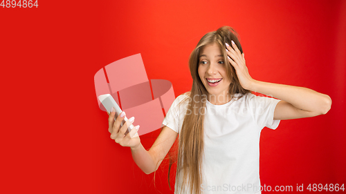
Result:
{"type": "Polygon", "coordinates": [[[116,143],[120,144],[121,146],[128,146],[131,148],[136,148],[140,145],[140,139],[137,134],[137,131],[139,129],[139,125],[134,127],[131,132],[127,132],[127,127],[130,126],[134,122],[134,117],[131,117],[130,119],[125,122],[125,124],[122,125],[120,128],[120,124],[122,120],[125,118],[125,112],[120,113],[120,115],[116,118],[114,121],[114,117],[116,116],[116,111],[114,108],[111,110],[111,114],[109,114],[108,118],[108,124],[109,128],[108,131],[111,133],[111,139],[114,139],[116,143]],[[132,137],[132,138],[131,138],[132,137]]]}

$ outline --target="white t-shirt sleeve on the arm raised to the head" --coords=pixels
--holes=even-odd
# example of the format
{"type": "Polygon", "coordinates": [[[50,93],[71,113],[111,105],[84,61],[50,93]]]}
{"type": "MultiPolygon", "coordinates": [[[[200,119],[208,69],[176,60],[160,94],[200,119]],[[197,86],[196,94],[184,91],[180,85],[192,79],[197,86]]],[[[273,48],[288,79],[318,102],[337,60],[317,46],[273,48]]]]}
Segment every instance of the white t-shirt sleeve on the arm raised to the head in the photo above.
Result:
{"type": "Polygon", "coordinates": [[[248,106],[258,126],[271,129],[279,126],[280,120],[274,120],[274,110],[279,101],[280,99],[248,94],[248,106]]]}

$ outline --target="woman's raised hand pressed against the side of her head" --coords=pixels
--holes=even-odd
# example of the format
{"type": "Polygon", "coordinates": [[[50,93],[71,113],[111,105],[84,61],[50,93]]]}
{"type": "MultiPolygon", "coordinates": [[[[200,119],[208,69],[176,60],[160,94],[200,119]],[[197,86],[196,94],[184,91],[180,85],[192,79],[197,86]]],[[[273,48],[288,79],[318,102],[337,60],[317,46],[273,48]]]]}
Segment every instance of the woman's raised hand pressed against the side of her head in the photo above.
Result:
{"type": "Polygon", "coordinates": [[[237,73],[237,77],[242,87],[246,90],[251,90],[251,84],[255,80],[248,73],[244,53],[242,54],[240,52],[234,41],[232,41],[231,44],[232,46],[229,46],[228,43],[226,43],[228,61],[230,61],[230,64],[235,68],[235,72],[237,73]]]}

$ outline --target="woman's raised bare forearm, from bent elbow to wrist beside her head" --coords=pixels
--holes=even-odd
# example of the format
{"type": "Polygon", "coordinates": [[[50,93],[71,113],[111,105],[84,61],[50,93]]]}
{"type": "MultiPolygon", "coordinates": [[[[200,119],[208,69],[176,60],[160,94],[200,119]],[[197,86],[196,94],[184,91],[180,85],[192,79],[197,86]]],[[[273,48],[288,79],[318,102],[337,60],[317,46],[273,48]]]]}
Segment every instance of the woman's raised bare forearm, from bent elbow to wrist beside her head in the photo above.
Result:
{"type": "Polygon", "coordinates": [[[309,88],[272,84],[253,80],[249,90],[287,101],[295,108],[325,114],[331,108],[331,98],[309,88]]]}

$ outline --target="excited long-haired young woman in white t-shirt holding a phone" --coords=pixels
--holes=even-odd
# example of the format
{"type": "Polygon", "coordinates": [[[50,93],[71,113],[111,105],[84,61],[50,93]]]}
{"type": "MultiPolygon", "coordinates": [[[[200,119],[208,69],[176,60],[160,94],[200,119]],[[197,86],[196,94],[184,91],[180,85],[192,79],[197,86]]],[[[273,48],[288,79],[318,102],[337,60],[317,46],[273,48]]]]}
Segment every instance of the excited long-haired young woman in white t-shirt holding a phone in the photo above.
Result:
{"type": "Polygon", "coordinates": [[[111,139],[129,146],[147,174],[156,171],[179,134],[175,193],[259,192],[262,128],[275,129],[282,119],[323,115],[331,108],[328,95],[253,79],[237,33],[228,26],[201,38],[189,66],[192,88],[175,99],[149,151],[139,137],[130,137],[139,126],[125,135],[133,119],[120,128],[125,113],[115,122],[115,113],[109,115],[111,139]]]}

